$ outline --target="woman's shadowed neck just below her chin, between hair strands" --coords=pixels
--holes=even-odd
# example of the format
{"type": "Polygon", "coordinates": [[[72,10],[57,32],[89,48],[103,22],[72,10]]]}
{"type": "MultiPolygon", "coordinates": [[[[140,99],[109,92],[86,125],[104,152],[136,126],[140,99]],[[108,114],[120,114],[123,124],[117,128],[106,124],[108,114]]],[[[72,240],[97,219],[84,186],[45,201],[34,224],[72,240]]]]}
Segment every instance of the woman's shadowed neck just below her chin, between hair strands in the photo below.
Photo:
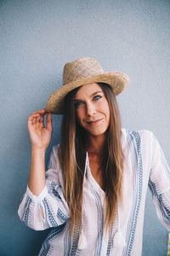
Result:
{"type": "Polygon", "coordinates": [[[102,154],[105,147],[106,136],[88,137],[88,154],[102,154]]]}

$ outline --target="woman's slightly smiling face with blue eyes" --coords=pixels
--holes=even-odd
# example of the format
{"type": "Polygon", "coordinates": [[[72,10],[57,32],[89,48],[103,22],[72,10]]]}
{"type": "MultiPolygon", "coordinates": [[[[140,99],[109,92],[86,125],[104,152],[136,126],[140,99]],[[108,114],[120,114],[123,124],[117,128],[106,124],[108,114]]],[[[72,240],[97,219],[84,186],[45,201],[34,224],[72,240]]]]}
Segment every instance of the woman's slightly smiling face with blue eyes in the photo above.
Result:
{"type": "Polygon", "coordinates": [[[79,124],[91,136],[101,136],[110,125],[110,108],[99,84],[82,85],[75,96],[79,124]]]}

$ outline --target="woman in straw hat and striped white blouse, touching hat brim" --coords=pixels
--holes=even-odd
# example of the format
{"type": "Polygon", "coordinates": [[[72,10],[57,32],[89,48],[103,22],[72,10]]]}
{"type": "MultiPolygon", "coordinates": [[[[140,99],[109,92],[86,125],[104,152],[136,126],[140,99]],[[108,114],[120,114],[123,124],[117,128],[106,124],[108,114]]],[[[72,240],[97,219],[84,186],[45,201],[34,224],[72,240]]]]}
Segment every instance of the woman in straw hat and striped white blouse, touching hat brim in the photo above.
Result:
{"type": "Polygon", "coordinates": [[[66,63],[63,86],[28,118],[31,170],[19,215],[34,230],[53,228],[39,255],[139,256],[148,185],[170,230],[170,172],[161,147],[152,132],[121,127],[116,95],[127,84],[127,75],[105,73],[93,58],[66,63]],[[63,113],[63,121],[45,172],[50,113],[63,113]]]}

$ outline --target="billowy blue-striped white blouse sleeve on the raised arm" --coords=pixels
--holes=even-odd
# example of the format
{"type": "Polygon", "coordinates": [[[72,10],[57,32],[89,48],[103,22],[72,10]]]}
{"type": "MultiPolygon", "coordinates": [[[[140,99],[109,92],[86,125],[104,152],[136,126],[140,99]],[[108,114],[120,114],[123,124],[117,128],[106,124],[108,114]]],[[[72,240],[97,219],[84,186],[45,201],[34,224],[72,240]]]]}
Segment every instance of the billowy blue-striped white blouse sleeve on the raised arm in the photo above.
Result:
{"type": "Polygon", "coordinates": [[[33,230],[46,230],[64,224],[70,215],[62,189],[63,179],[58,154],[59,145],[53,148],[46,172],[46,185],[40,195],[33,195],[27,186],[20,203],[20,220],[33,230]]]}

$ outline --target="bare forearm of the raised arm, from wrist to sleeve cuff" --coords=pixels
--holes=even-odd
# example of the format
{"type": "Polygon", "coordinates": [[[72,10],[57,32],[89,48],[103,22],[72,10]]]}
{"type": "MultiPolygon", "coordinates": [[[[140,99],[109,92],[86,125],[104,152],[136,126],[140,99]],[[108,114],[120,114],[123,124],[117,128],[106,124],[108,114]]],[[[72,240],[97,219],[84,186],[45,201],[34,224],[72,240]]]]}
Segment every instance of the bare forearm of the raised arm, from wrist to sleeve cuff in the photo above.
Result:
{"type": "Polygon", "coordinates": [[[45,150],[32,148],[28,187],[32,194],[39,195],[45,183],[45,150]]]}

